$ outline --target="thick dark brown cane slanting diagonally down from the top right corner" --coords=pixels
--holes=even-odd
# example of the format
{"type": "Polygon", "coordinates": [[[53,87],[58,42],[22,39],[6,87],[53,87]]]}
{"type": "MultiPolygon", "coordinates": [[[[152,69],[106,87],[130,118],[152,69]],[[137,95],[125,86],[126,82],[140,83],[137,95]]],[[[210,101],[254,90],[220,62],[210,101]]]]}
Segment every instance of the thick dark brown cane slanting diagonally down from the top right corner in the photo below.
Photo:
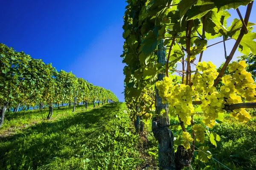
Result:
{"type": "MultiPolygon", "coordinates": [[[[250,2],[248,5],[247,5],[247,10],[246,10],[246,14],[245,14],[245,17],[244,17],[244,23],[245,25],[247,26],[247,23],[248,23],[248,20],[249,20],[249,17],[250,17],[250,13],[251,13],[251,10],[252,10],[252,7],[253,7],[253,1],[250,2]]],[[[230,61],[232,60],[233,58],[233,55],[235,54],[236,52],[236,49],[238,48],[239,46],[239,43],[241,42],[242,38],[244,36],[244,30],[243,28],[241,29],[240,31],[240,34],[236,40],[236,43],[235,45],[233,46],[233,49],[231,50],[230,52],[230,55],[227,56],[227,60],[226,62],[224,63],[224,66],[222,67],[221,71],[219,72],[219,75],[218,77],[215,79],[215,82],[213,84],[214,87],[217,86],[218,82],[221,80],[221,77],[223,76],[228,64],[230,63],[230,61]]]]}

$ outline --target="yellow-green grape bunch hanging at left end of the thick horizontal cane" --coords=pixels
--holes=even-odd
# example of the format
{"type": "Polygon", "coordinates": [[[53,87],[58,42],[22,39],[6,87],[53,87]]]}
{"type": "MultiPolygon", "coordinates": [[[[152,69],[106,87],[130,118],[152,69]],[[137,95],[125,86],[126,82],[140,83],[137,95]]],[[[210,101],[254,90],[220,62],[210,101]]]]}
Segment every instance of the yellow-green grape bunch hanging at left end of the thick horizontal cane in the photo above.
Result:
{"type": "Polygon", "coordinates": [[[201,109],[204,111],[204,124],[212,128],[215,125],[215,119],[219,112],[224,112],[224,95],[218,92],[212,92],[202,99],[201,109]]]}

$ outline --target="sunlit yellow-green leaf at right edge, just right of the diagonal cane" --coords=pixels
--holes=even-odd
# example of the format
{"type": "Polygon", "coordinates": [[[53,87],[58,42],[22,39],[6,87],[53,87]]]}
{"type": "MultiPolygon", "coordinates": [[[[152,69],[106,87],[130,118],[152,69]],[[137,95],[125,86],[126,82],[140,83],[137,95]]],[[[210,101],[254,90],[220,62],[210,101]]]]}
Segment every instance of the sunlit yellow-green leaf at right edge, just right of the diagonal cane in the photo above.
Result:
{"type": "MultiPolygon", "coordinates": [[[[236,39],[239,36],[239,32],[236,32],[235,35],[233,35],[232,38],[236,39]]],[[[249,55],[250,52],[253,54],[256,54],[256,42],[254,41],[256,39],[256,33],[255,32],[249,32],[248,34],[244,35],[241,42],[239,43],[239,52],[249,55]]]]}

